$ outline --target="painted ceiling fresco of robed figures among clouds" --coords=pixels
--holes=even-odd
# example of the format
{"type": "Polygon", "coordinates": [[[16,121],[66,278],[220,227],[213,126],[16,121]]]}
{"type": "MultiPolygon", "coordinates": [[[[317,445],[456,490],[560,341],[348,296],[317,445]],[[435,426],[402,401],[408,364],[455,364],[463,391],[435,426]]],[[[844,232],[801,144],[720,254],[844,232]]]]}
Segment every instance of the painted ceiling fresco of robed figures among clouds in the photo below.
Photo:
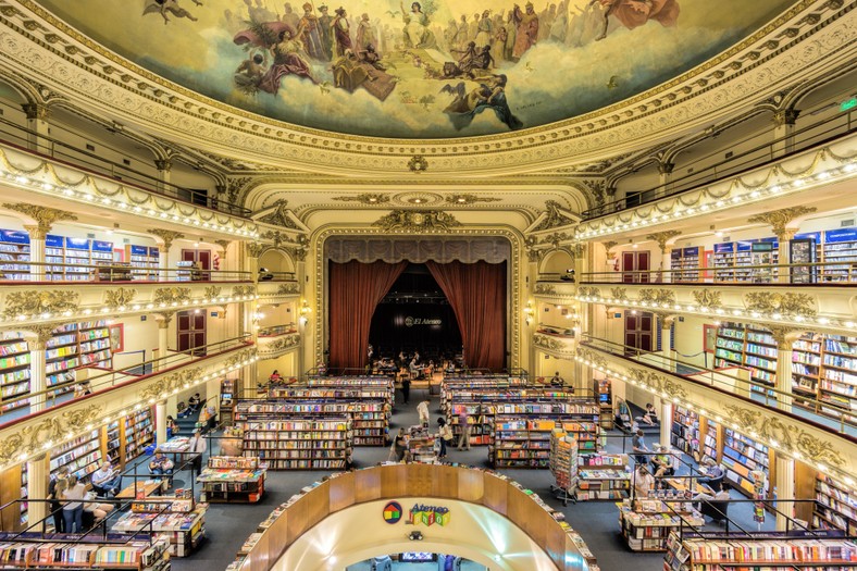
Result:
{"type": "Polygon", "coordinates": [[[783,0],[37,0],[136,64],[303,127],[431,139],[537,127],[656,87],[783,0]]]}

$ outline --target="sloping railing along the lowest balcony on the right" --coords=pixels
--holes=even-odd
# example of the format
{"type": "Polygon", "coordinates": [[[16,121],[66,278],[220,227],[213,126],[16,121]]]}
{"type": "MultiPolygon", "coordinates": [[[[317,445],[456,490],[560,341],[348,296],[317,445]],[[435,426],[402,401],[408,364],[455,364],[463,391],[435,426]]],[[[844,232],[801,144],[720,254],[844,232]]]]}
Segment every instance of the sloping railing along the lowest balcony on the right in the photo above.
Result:
{"type": "Polygon", "coordinates": [[[688,383],[704,384],[740,398],[747,398],[757,405],[781,412],[783,409],[778,408],[778,404],[791,404],[785,412],[791,412],[797,418],[823,426],[829,431],[857,438],[857,412],[850,408],[791,390],[783,392],[771,385],[759,383],[750,378],[749,375],[738,373],[738,371],[743,371],[743,368],[710,369],[591,335],[584,335],[581,345],[682,376],[688,383]]]}

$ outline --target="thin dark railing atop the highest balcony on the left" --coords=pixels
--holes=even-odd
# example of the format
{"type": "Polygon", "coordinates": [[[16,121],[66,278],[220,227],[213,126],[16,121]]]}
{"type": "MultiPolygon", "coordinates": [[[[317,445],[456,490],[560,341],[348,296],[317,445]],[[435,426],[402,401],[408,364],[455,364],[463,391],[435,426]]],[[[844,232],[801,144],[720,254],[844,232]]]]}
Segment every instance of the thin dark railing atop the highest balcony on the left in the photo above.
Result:
{"type": "MultiPolygon", "coordinates": [[[[51,124],[51,129],[63,131],[67,133],[70,137],[74,138],[80,138],[83,136],[57,124],[51,124]]],[[[52,159],[53,161],[74,169],[122,181],[123,184],[135,186],[147,193],[170,197],[196,207],[208,208],[233,216],[248,218],[250,215],[249,209],[224,200],[219,200],[215,197],[209,196],[204,190],[186,188],[166,183],[156,176],[132,169],[127,164],[111,161],[86,148],[76,147],[47,136],[46,134],[22,127],[7,119],[0,119],[0,142],[14,147],[21,151],[52,159]],[[35,149],[33,148],[34,144],[35,149]]],[[[104,142],[99,141],[98,146],[110,149],[116,156],[126,154],[123,150],[111,149],[110,146],[104,142]]]]}

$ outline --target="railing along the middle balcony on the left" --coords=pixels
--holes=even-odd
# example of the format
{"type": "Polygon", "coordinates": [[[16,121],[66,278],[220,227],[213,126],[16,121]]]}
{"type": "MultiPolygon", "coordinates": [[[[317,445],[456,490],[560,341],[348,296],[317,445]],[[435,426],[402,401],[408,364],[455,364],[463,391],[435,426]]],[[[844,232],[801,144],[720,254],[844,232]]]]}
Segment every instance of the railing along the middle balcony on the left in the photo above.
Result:
{"type": "MultiPolygon", "coordinates": [[[[2,257],[2,253],[0,253],[2,257]]],[[[72,264],[0,259],[0,283],[252,282],[250,272],[176,268],[139,268],[122,262],[72,264]]]]}

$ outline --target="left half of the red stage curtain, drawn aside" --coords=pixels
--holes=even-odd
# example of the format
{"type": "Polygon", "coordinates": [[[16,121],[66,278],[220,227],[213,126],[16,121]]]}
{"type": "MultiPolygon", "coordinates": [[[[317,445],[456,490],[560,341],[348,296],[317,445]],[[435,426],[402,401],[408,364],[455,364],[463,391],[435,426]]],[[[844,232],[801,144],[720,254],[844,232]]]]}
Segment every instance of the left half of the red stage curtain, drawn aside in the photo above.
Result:
{"type": "Polygon", "coordinates": [[[407,266],[408,262],[331,263],[331,369],[365,367],[372,315],[407,266]]]}

